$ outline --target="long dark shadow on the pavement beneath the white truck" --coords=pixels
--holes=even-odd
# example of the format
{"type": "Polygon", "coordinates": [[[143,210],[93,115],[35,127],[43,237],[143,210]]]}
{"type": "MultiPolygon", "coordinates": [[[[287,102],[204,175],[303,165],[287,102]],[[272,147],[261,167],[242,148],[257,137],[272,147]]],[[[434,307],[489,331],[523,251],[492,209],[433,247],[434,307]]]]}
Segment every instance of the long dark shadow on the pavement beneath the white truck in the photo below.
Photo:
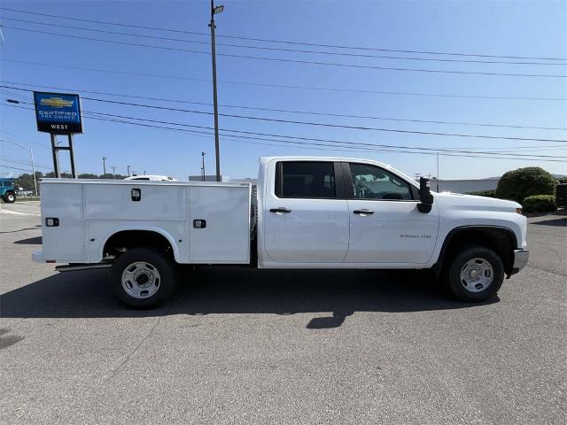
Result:
{"type": "MultiPolygon", "coordinates": [[[[170,314],[330,313],[307,328],[337,328],[355,312],[475,307],[439,288],[427,273],[373,270],[259,270],[214,267],[183,272],[173,299],[152,310],[120,304],[105,271],[54,274],[0,297],[4,318],[157,317],[170,314]]],[[[493,298],[484,304],[498,302],[493,298]]]]}

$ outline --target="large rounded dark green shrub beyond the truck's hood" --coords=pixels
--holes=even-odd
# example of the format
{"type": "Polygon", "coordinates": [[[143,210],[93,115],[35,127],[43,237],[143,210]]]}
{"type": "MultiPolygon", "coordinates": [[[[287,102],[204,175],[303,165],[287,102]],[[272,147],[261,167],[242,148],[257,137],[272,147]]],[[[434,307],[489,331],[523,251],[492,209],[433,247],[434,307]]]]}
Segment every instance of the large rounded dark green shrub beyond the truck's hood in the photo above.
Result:
{"type": "Polygon", "coordinates": [[[502,175],[496,187],[496,197],[521,203],[533,195],[553,195],[554,190],[553,175],[539,166],[528,166],[502,175]]]}

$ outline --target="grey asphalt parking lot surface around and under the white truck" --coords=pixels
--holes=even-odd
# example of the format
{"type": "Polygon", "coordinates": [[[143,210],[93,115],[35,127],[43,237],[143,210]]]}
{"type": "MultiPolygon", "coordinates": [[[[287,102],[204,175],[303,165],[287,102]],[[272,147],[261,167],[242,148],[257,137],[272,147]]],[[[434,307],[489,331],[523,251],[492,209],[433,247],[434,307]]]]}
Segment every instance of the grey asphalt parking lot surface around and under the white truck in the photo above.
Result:
{"type": "Polygon", "coordinates": [[[229,267],[136,311],[31,262],[38,203],[1,208],[2,423],[567,422],[564,215],[530,219],[484,305],[421,273],[229,267]]]}

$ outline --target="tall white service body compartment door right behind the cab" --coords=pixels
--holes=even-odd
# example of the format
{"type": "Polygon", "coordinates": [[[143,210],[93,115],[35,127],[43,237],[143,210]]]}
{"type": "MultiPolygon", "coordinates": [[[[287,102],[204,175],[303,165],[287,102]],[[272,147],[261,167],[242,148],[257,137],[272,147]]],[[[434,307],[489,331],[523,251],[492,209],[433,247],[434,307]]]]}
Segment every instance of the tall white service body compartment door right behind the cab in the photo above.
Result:
{"type": "Polygon", "coordinates": [[[189,188],[191,263],[250,262],[251,186],[189,188]]]}

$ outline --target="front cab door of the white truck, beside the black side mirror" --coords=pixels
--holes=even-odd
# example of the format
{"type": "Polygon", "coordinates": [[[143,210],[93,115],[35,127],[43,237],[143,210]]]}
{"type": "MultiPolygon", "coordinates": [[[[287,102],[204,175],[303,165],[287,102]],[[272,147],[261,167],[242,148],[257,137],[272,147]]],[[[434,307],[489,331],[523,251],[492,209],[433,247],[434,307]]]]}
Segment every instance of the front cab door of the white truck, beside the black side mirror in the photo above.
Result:
{"type": "Polygon", "coordinates": [[[439,229],[439,211],[419,213],[416,190],[384,168],[343,163],[350,217],[347,263],[425,264],[439,229]]]}

